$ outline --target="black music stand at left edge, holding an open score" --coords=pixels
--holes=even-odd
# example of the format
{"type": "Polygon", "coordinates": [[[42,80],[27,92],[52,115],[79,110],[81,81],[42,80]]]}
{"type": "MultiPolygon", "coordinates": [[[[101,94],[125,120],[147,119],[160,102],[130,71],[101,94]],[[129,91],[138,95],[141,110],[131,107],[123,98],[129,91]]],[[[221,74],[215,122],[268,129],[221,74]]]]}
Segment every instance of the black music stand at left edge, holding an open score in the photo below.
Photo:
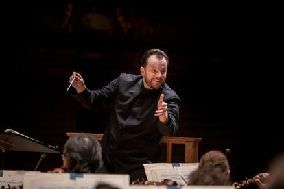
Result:
{"type": "Polygon", "coordinates": [[[12,129],[6,129],[3,134],[0,134],[0,149],[2,150],[2,168],[5,150],[60,153],[58,147],[44,144],[12,129]]]}

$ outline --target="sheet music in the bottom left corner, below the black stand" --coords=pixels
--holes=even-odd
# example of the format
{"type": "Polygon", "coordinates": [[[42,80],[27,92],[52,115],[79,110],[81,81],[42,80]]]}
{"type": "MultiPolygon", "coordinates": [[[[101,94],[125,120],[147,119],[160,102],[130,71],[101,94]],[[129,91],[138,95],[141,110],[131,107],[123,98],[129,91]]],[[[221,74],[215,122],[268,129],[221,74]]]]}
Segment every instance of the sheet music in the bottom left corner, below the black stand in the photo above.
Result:
{"type": "Polygon", "coordinates": [[[23,185],[25,173],[39,173],[39,171],[24,171],[24,170],[0,170],[0,188],[9,188],[10,186],[23,185]]]}

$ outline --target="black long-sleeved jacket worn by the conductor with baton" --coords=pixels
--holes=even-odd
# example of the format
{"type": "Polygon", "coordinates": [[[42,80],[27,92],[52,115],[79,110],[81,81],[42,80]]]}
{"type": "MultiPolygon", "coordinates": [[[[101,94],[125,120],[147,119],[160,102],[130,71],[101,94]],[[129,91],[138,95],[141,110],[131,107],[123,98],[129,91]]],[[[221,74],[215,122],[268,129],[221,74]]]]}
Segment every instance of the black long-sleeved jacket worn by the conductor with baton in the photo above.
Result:
{"type": "Polygon", "coordinates": [[[150,163],[162,136],[178,129],[180,98],[167,84],[158,90],[143,86],[143,76],[121,74],[99,90],[73,95],[86,108],[100,103],[112,104],[110,120],[102,138],[102,153],[113,173],[131,173],[150,163]],[[169,124],[154,116],[161,94],[165,97],[169,124]]]}

